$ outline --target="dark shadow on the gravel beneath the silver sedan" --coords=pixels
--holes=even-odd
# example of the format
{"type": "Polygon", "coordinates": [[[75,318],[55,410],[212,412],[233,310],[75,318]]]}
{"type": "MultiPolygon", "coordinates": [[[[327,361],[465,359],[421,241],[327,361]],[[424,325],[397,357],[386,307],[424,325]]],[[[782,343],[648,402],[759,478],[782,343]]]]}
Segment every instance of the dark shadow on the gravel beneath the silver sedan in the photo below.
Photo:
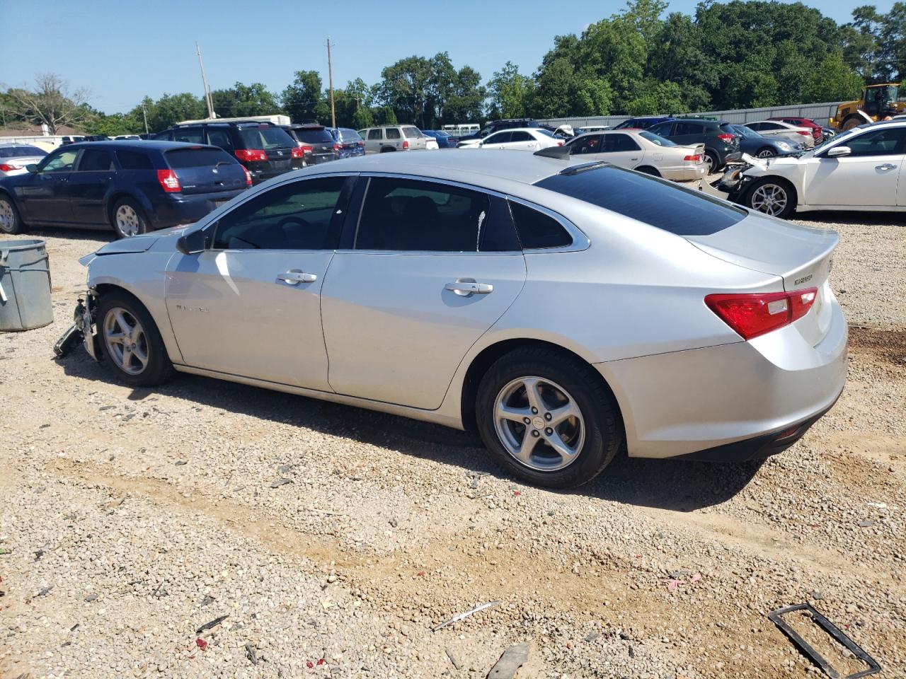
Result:
{"type": "MultiPolygon", "coordinates": [[[[93,362],[81,348],[56,360],[71,377],[120,386],[107,368],[93,362]]],[[[157,395],[221,408],[238,415],[305,426],[323,434],[352,438],[455,465],[467,473],[511,479],[490,459],[477,435],[445,426],[184,374],[160,387],[132,389],[128,398],[138,405],[157,395]]],[[[612,502],[691,512],[726,502],[751,481],[759,467],[760,464],[641,460],[623,455],[593,483],[554,493],[582,494],[612,502]]]]}

